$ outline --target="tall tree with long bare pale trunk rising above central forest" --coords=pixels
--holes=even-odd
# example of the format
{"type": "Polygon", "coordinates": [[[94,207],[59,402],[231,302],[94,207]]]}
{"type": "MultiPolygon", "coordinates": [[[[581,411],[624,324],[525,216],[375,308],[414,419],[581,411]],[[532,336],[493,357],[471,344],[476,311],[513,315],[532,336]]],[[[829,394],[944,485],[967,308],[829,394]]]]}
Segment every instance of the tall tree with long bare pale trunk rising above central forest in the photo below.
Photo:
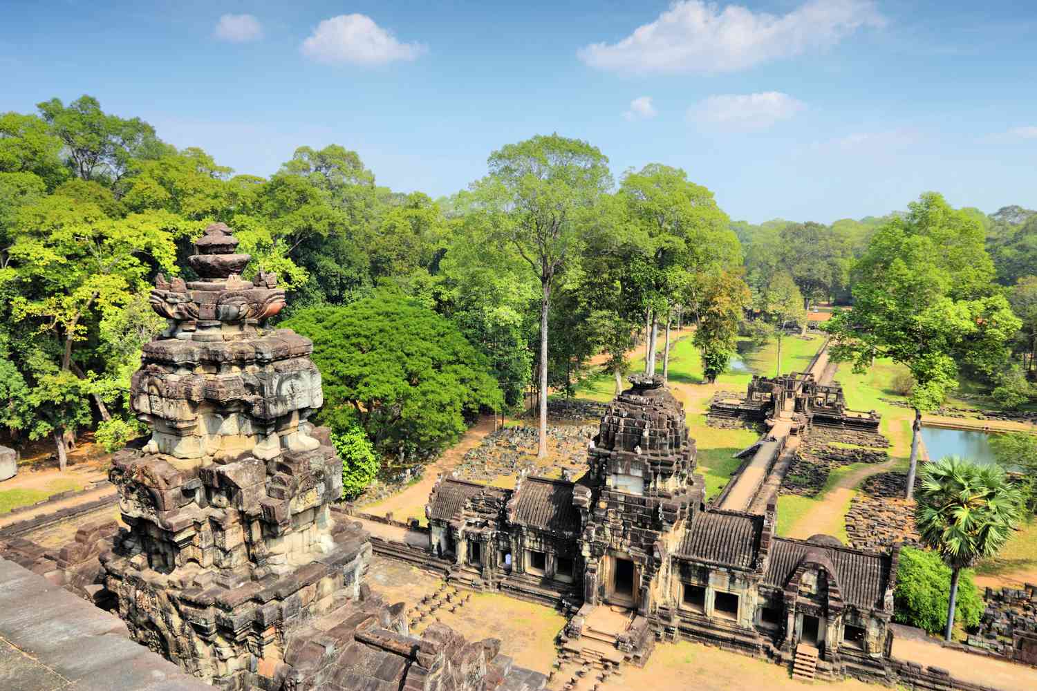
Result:
{"type": "Polygon", "coordinates": [[[540,421],[537,457],[548,455],[548,316],[551,292],[578,256],[580,235],[612,185],[609,160],[596,147],[537,135],[494,151],[489,174],[475,184],[501,241],[540,282],[540,421]]]}

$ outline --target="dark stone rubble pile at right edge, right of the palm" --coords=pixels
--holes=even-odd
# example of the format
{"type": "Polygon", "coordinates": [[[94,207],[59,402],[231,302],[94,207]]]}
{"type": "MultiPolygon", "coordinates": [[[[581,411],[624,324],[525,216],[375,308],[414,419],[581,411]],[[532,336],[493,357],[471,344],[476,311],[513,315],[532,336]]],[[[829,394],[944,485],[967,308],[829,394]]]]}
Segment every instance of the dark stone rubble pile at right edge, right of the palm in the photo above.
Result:
{"type": "Polygon", "coordinates": [[[1037,585],[986,588],[979,630],[965,644],[1014,662],[1037,665],[1037,585]]]}

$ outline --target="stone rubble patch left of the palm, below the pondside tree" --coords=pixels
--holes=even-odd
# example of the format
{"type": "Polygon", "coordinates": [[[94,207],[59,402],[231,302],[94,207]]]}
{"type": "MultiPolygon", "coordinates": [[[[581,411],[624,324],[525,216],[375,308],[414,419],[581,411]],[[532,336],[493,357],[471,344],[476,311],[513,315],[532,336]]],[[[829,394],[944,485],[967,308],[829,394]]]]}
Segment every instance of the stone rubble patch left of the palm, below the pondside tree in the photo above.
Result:
{"type": "MultiPolygon", "coordinates": [[[[915,501],[903,498],[906,482],[903,472],[882,472],[864,481],[846,514],[850,547],[884,551],[896,543],[921,546],[915,529],[915,501]]],[[[915,488],[920,484],[916,479],[915,488]]]]}

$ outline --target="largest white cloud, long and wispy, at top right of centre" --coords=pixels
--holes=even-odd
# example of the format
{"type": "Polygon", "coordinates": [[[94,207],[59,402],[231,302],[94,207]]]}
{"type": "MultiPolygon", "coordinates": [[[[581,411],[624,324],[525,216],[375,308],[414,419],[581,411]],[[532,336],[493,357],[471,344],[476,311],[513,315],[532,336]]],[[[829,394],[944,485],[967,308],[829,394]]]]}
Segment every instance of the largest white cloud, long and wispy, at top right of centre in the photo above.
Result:
{"type": "Polygon", "coordinates": [[[591,44],[577,55],[619,73],[714,74],[823,49],[861,27],[885,24],[873,0],[808,0],[782,16],[679,0],[622,40],[591,44]]]}

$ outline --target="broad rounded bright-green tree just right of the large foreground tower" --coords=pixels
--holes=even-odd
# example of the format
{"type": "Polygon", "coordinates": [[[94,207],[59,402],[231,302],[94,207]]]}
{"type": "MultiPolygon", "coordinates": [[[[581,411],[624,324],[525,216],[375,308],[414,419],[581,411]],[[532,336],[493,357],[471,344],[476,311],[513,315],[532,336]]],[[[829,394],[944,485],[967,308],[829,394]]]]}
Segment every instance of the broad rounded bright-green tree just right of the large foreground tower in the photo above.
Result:
{"type": "Polygon", "coordinates": [[[447,319],[399,295],[302,310],[284,325],[313,340],[320,420],[339,433],[363,428],[381,453],[435,453],[466,418],[503,403],[486,358],[447,319]]]}

